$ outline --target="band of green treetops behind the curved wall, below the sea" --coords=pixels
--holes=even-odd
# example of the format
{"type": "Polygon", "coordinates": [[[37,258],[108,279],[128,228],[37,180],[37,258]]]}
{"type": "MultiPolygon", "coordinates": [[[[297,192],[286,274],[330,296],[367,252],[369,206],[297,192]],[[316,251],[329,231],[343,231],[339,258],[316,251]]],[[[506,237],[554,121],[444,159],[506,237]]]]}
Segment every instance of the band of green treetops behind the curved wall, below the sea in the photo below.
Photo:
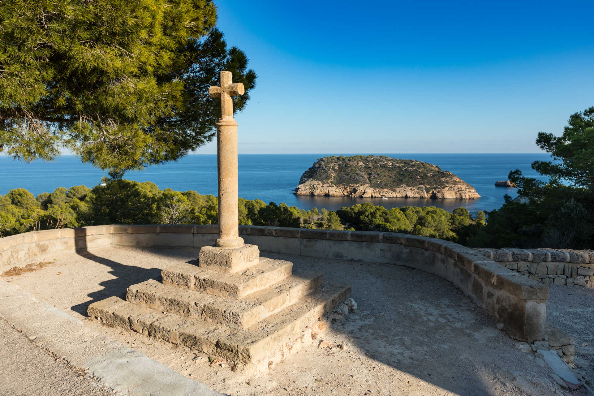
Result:
{"type": "MultiPolygon", "coordinates": [[[[0,236],[64,227],[98,224],[216,224],[217,198],[195,191],[161,190],[151,182],[104,179],[93,189],[74,186],[34,197],[23,188],[0,196],[0,236]]],[[[390,210],[370,204],[337,211],[302,210],[260,199],[239,198],[239,223],[258,226],[332,230],[375,230],[438,237],[464,243],[485,224],[465,208],[449,213],[436,207],[390,210]]]]}

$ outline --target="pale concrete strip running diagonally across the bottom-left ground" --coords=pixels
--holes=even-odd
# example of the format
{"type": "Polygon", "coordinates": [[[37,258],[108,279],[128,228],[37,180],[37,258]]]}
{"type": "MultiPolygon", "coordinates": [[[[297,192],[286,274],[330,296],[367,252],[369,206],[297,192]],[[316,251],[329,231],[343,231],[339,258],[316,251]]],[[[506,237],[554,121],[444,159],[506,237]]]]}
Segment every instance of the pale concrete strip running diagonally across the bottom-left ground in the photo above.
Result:
{"type": "MultiPolygon", "coordinates": [[[[122,395],[221,396],[201,382],[85,327],[79,319],[37,300],[4,280],[0,280],[0,317],[37,346],[122,395]]],[[[29,370],[25,371],[29,373],[29,370]]],[[[2,370],[0,382],[18,384],[22,377],[18,370],[2,370]]],[[[78,391],[77,388],[72,390],[78,391]]]]}

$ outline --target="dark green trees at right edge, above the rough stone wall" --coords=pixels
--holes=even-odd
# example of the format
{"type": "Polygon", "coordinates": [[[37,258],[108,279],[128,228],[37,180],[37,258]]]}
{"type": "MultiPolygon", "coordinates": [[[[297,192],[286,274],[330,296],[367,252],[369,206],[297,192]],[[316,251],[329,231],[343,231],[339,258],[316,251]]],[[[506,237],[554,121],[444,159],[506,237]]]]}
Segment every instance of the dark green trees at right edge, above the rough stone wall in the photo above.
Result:
{"type": "Polygon", "coordinates": [[[548,182],[510,172],[522,199],[506,195],[467,245],[594,249],[594,107],[571,115],[559,137],[540,132],[536,144],[552,157],[532,163],[548,182]]]}

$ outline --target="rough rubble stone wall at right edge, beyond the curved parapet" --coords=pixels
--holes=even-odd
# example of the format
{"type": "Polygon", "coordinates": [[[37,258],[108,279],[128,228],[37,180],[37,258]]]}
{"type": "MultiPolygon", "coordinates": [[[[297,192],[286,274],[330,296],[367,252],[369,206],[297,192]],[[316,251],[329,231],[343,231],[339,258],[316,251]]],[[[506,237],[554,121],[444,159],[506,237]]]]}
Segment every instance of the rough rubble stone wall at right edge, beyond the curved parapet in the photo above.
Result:
{"type": "Polygon", "coordinates": [[[542,284],[594,287],[594,251],[475,249],[489,260],[542,284]]]}

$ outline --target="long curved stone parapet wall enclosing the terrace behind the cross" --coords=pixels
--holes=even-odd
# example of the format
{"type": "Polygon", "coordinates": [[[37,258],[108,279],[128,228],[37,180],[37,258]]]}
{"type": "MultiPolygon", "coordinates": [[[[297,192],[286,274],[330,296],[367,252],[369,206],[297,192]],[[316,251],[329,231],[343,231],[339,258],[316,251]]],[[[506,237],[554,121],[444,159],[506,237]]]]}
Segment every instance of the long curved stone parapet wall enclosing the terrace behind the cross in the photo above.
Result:
{"type": "MultiPolygon", "coordinates": [[[[108,246],[198,249],[213,244],[217,233],[216,225],[108,225],[29,232],[0,239],[0,270],[42,261],[57,252],[108,246]]],[[[548,287],[457,243],[388,232],[260,226],[240,226],[239,234],[263,252],[405,265],[438,275],[503,322],[513,337],[544,337],[548,287]]]]}

